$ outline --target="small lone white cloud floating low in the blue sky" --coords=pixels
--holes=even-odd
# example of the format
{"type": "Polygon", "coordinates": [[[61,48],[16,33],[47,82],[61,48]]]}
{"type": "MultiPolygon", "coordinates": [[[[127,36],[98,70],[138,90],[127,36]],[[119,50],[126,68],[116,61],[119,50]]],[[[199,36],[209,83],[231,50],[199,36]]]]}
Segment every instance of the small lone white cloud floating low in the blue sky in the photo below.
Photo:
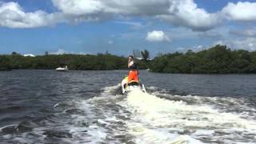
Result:
{"type": "Polygon", "coordinates": [[[162,42],[162,41],[170,42],[170,38],[161,30],[154,30],[154,31],[148,32],[146,35],[146,40],[149,42],[162,42]]]}

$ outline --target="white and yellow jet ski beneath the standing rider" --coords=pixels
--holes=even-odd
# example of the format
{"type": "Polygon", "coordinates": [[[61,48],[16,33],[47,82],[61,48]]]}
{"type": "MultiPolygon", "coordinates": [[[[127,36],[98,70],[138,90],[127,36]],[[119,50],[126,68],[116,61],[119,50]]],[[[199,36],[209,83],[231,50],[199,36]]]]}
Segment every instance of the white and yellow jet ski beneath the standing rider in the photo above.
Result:
{"type": "Polygon", "coordinates": [[[145,86],[141,82],[130,81],[128,86],[126,86],[126,82],[128,81],[128,77],[122,80],[122,94],[127,94],[132,90],[142,90],[143,93],[146,93],[145,86]]]}

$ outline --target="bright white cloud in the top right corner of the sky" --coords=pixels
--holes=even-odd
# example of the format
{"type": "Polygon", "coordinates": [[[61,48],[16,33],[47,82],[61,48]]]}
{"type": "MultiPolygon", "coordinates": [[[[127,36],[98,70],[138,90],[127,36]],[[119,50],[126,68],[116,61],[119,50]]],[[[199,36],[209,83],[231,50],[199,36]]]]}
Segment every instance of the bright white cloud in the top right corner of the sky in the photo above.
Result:
{"type": "Polygon", "coordinates": [[[256,2],[229,2],[222,13],[234,21],[256,21],[256,2]]]}

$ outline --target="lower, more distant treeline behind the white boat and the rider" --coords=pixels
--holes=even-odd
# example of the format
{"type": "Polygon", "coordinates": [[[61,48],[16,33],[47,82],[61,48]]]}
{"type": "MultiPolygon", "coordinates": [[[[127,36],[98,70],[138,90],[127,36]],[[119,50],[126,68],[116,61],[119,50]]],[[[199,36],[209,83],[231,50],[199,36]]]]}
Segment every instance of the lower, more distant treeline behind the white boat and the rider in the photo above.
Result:
{"type": "MultiPolygon", "coordinates": [[[[137,62],[139,69],[149,67],[145,61],[137,62]]],[[[0,55],[0,70],[54,70],[59,66],[68,66],[69,70],[125,70],[127,58],[112,54],[47,54],[24,57],[14,52],[10,55],[0,55]]]]}

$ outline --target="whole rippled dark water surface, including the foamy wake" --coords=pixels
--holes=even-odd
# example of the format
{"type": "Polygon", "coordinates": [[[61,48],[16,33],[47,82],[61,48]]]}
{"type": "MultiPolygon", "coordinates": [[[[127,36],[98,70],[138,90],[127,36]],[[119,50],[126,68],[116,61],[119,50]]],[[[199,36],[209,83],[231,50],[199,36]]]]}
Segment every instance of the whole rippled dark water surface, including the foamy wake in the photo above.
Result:
{"type": "Polygon", "coordinates": [[[255,143],[255,74],[0,72],[2,143],[255,143]]]}

